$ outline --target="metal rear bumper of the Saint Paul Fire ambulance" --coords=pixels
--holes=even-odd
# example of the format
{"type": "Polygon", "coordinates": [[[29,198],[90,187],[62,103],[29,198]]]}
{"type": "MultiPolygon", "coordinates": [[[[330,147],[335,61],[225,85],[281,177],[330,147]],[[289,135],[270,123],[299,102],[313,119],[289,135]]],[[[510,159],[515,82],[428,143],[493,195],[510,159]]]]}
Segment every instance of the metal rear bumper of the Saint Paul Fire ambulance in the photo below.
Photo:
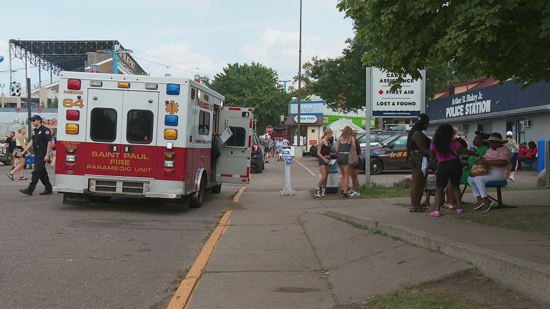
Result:
{"type": "Polygon", "coordinates": [[[53,190],[80,194],[181,198],[185,192],[185,182],[121,176],[56,174],[56,185],[53,190]]]}

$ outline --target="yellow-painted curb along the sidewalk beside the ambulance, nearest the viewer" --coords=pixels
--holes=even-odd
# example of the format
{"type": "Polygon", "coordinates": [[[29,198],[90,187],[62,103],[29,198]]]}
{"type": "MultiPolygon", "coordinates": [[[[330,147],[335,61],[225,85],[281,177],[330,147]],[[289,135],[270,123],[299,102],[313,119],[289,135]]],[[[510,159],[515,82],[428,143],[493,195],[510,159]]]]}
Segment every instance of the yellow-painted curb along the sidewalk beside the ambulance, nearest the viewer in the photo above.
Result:
{"type": "MultiPolygon", "coordinates": [[[[244,192],[244,189],[245,187],[242,187],[239,191],[239,198],[242,192],[244,192]]],[[[235,199],[233,199],[233,201],[234,200],[235,199]]],[[[193,293],[193,290],[195,289],[195,286],[197,285],[197,282],[201,277],[202,270],[206,267],[208,260],[210,260],[210,256],[214,252],[214,249],[216,248],[219,239],[227,230],[227,223],[229,221],[229,216],[231,216],[232,212],[232,210],[228,210],[223,215],[222,219],[219,220],[218,226],[214,229],[212,235],[210,235],[210,238],[208,238],[208,240],[206,241],[206,244],[202,246],[202,250],[199,253],[199,256],[197,256],[195,262],[193,263],[193,266],[191,266],[191,269],[189,269],[189,272],[185,276],[185,279],[183,279],[182,283],[180,283],[178,290],[175,291],[175,294],[166,309],[183,309],[186,307],[186,305],[189,304],[191,294],[193,293]]]]}

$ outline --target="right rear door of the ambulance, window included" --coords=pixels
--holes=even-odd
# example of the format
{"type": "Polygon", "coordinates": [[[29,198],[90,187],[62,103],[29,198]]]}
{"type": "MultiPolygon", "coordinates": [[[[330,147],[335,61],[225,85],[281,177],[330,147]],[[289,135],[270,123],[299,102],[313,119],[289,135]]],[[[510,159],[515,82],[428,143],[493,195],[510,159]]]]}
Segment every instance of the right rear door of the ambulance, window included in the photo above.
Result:
{"type": "Polygon", "coordinates": [[[123,92],[120,176],[155,178],[158,92],[123,92]]]}

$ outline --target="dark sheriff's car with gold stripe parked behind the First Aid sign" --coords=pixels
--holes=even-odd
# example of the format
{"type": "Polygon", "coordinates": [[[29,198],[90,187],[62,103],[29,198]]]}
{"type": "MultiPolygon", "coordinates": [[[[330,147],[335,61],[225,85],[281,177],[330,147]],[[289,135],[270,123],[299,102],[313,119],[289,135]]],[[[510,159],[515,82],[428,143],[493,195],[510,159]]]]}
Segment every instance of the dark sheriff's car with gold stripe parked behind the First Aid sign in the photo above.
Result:
{"type": "MultiPolygon", "coordinates": [[[[432,133],[425,133],[430,139],[432,133]]],[[[409,169],[407,163],[407,136],[408,133],[400,133],[390,136],[386,140],[380,142],[377,146],[371,147],[370,153],[370,173],[378,175],[382,170],[388,169],[409,169]]],[[[365,156],[365,147],[361,147],[362,156],[365,156]]],[[[363,170],[366,169],[366,162],[363,170]]]]}

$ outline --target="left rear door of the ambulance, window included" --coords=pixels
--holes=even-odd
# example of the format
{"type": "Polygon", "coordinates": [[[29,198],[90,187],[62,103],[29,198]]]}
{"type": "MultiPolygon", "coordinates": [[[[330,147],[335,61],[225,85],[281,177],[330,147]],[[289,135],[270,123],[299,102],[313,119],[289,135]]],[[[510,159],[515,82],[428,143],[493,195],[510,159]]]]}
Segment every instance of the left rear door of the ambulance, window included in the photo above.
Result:
{"type": "Polygon", "coordinates": [[[88,89],[84,174],[120,174],[122,101],[122,90],[88,89]]]}

